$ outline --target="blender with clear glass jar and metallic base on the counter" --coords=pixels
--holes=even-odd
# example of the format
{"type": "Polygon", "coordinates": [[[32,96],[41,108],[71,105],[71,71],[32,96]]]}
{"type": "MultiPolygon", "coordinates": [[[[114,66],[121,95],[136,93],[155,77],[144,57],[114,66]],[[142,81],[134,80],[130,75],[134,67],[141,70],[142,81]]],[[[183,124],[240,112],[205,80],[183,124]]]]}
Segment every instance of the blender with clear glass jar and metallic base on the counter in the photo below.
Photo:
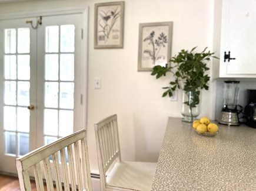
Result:
{"type": "Polygon", "coordinates": [[[220,124],[224,125],[240,125],[237,110],[238,84],[240,81],[224,81],[223,89],[223,107],[220,115],[220,124]]]}

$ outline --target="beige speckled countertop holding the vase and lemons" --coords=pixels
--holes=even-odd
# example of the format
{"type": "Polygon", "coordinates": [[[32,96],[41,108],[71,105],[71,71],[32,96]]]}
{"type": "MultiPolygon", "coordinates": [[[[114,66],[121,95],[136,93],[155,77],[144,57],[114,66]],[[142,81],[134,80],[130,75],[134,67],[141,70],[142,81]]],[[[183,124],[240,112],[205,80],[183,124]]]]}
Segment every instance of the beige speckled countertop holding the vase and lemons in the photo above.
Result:
{"type": "Polygon", "coordinates": [[[152,190],[256,190],[256,129],[218,126],[203,137],[169,117],[152,190]]]}

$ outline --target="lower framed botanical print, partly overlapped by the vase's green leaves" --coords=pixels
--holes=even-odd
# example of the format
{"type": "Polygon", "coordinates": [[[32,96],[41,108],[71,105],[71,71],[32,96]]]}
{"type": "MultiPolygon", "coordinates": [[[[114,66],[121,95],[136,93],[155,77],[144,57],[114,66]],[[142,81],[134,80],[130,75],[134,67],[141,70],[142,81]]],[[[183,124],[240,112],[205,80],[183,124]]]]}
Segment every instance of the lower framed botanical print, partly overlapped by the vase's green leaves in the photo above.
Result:
{"type": "Polygon", "coordinates": [[[173,22],[139,24],[138,71],[152,71],[171,59],[173,22]]]}

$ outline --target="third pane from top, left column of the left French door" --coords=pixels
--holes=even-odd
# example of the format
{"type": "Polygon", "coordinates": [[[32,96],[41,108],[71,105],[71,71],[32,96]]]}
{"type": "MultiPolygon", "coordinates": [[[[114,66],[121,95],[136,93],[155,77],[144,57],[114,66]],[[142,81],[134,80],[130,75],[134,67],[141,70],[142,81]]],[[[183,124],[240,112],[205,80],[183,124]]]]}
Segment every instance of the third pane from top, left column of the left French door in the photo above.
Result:
{"type": "Polygon", "coordinates": [[[6,105],[16,105],[16,81],[5,81],[5,98],[6,105]]]}

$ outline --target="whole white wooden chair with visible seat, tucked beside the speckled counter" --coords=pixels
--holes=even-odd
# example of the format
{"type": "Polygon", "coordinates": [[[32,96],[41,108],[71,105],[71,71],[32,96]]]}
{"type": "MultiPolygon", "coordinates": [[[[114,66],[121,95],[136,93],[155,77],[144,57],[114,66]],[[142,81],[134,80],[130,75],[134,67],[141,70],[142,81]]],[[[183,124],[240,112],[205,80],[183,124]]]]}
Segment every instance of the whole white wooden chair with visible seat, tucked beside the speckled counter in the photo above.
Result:
{"type": "Polygon", "coordinates": [[[151,190],[157,163],[121,161],[117,115],[94,125],[103,190],[151,190]]]}

